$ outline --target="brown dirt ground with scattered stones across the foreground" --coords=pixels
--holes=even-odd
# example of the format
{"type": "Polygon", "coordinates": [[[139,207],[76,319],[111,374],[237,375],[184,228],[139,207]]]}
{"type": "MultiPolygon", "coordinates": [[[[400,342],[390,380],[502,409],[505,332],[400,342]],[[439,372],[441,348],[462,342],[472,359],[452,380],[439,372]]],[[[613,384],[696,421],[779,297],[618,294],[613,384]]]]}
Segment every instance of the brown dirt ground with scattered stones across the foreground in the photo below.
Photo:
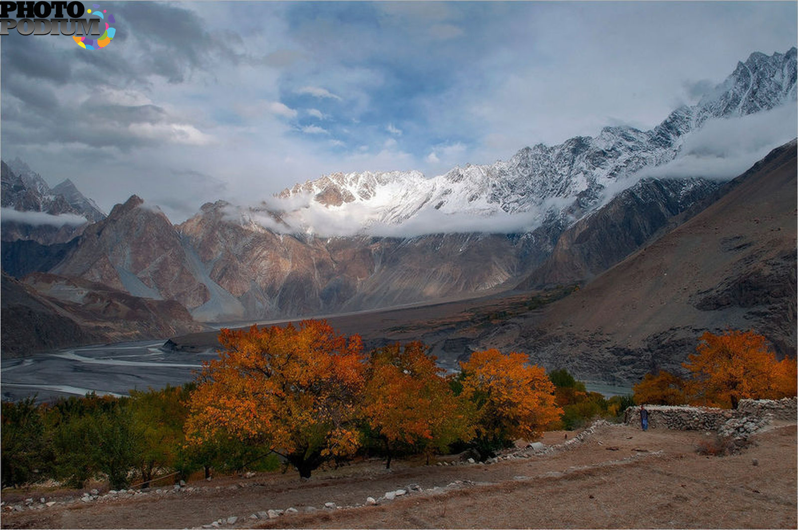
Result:
{"type": "MultiPolygon", "coordinates": [[[[543,442],[561,444],[563,437],[547,433],[543,442]]],[[[220,477],[180,492],[22,512],[6,509],[26,497],[58,501],[82,491],[4,492],[2,527],[191,528],[223,519],[219,528],[796,528],[795,424],[772,426],[731,456],[698,454],[710,439],[602,426],[584,442],[492,465],[395,461],[387,471],[371,460],[317,471],[309,481],[292,472],[220,477]],[[408,485],[418,488],[363,505],[408,485]],[[250,518],[290,507],[298,512],[250,518]],[[238,520],[227,524],[231,516],[238,520]]]]}

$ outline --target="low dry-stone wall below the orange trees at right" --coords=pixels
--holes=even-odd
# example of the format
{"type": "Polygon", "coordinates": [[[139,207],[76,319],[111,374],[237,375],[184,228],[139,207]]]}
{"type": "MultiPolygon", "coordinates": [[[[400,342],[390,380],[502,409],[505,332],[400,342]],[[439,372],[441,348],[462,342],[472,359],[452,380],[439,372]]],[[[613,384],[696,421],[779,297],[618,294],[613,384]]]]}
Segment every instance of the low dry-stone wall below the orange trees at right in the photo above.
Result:
{"type": "MultiPolygon", "coordinates": [[[[646,405],[650,428],[673,430],[721,431],[731,420],[733,423],[764,425],[771,419],[796,420],[796,398],[741,399],[737,410],[717,409],[707,406],[646,405]]],[[[626,409],[624,422],[640,426],[640,407],[626,409]]]]}

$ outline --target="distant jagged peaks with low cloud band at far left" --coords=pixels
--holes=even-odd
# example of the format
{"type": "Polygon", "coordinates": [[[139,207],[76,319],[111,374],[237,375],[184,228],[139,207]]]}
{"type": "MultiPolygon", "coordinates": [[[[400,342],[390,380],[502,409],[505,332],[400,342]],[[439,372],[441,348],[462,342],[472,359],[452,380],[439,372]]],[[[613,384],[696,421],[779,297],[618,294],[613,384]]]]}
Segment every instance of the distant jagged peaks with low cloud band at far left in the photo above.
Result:
{"type": "Polygon", "coordinates": [[[0,162],[2,241],[64,243],[90,222],[105,218],[69,179],[50,189],[41,175],[20,159],[0,162]]]}

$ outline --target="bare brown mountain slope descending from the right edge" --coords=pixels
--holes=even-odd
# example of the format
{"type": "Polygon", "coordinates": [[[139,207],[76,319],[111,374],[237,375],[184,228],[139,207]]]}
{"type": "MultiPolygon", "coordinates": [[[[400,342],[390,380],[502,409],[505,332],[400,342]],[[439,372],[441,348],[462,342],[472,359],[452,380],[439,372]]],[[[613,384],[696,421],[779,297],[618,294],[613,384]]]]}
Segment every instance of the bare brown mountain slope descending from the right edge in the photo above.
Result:
{"type": "Polygon", "coordinates": [[[527,351],[580,379],[633,383],[678,370],[705,330],[753,328],[796,353],[796,143],[717,202],[537,317],[480,344],[527,351]]]}

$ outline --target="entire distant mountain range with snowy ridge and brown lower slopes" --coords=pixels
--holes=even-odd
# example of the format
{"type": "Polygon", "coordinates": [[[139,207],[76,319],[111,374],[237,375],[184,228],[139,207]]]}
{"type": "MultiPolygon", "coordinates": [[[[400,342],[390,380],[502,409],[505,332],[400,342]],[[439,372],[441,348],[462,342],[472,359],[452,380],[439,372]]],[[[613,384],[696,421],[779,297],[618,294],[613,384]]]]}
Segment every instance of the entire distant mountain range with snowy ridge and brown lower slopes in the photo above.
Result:
{"type": "MultiPolygon", "coordinates": [[[[432,179],[400,171],[326,175],[259,206],[206,203],[178,226],[136,196],[105,217],[71,183],[50,190],[19,161],[4,163],[3,269],[20,279],[49,273],[48,282],[28,281],[42,296],[61,289],[53,285],[88,281],[174,300],[204,322],[585,283],[727,193],[717,178],[669,176],[669,163],[695,154],[689,142],[697,133],[795,100],[796,49],[753,53],[697,104],[649,131],[608,127],[432,179]],[[68,222],[23,230],[17,218],[6,222],[9,210],[68,222]]],[[[791,344],[794,352],[794,337],[791,344]]]]}

